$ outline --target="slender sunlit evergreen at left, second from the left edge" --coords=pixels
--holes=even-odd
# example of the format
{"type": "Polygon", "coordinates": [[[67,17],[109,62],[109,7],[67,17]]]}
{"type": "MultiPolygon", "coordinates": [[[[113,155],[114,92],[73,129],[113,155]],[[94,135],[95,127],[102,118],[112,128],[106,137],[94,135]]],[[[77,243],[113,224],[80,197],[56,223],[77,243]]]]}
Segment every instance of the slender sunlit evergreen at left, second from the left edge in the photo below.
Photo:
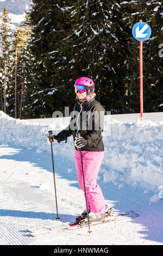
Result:
{"type": "Polygon", "coordinates": [[[14,40],[12,41],[12,76],[9,89],[9,111],[15,118],[29,117],[28,108],[30,106],[29,88],[30,84],[30,52],[29,38],[30,27],[26,21],[16,28],[14,40]],[[15,111],[13,111],[15,109],[15,111]]]}

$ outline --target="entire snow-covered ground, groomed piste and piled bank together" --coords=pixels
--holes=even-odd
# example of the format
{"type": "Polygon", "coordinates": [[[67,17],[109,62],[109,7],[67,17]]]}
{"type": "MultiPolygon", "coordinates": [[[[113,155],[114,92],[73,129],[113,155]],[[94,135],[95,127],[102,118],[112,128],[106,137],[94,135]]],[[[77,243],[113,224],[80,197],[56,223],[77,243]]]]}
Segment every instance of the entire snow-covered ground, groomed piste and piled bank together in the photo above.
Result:
{"type": "Polygon", "coordinates": [[[163,113],[105,116],[105,156],[98,175],[106,203],[138,218],[76,231],[31,237],[27,228],[72,221],[85,209],[74,165],[72,137],[53,144],[58,212],[56,221],[48,130],[68,118],[15,120],[0,112],[1,245],[163,245],[163,113]]]}

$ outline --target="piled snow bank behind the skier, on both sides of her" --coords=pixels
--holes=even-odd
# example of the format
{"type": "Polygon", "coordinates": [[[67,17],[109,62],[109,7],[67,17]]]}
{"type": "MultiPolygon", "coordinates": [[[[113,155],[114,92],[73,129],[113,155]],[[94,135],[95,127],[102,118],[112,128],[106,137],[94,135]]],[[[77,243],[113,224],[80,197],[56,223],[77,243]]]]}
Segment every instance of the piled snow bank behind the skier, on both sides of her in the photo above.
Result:
{"type": "MultiPolygon", "coordinates": [[[[154,113],[153,113],[154,114],[154,113]]],[[[48,130],[54,134],[64,129],[67,124],[30,123],[14,119],[0,111],[0,143],[16,145],[36,153],[49,151],[46,137],[48,130]]],[[[117,121],[105,116],[103,141],[105,156],[98,179],[113,182],[120,188],[124,184],[142,186],[157,192],[151,202],[163,197],[163,121],[134,123],[117,121]]],[[[55,145],[55,155],[74,156],[72,137],[65,144],[55,145]]]]}

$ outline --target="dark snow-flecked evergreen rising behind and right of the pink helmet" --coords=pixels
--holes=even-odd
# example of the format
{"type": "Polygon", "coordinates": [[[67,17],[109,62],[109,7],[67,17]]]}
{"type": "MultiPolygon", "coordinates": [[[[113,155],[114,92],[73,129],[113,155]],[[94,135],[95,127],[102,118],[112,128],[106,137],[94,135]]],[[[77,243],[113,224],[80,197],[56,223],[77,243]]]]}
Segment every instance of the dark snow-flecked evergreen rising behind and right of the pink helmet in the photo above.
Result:
{"type": "Polygon", "coordinates": [[[122,75],[126,76],[127,53],[125,32],[119,21],[121,10],[116,1],[88,0],[80,1],[73,12],[72,49],[79,53],[73,52],[74,69],[80,72],[75,71],[74,77],[91,76],[97,99],[106,110],[120,113],[120,99],[126,92],[122,75]]]}

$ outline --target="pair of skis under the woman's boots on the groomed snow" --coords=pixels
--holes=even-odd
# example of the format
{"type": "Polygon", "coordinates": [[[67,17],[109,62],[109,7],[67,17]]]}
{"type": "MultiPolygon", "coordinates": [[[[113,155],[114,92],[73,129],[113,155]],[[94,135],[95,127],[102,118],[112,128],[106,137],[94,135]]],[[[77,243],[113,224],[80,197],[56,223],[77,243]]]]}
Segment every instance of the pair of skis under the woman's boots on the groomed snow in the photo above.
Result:
{"type": "MultiPolygon", "coordinates": [[[[93,222],[90,223],[90,225],[97,225],[97,224],[103,224],[103,223],[108,223],[112,221],[118,221],[118,220],[124,220],[128,217],[130,218],[135,218],[138,217],[139,215],[134,214],[134,211],[128,211],[128,212],[121,212],[118,214],[114,214],[111,217],[108,218],[106,221],[98,221],[98,222],[93,222]],[[126,217],[126,218],[125,218],[126,217]]],[[[39,229],[27,229],[27,231],[30,233],[31,236],[40,236],[47,234],[48,232],[51,231],[59,231],[59,230],[74,230],[74,229],[79,229],[79,228],[84,228],[87,227],[87,223],[77,223],[76,221],[70,222],[70,223],[65,223],[62,225],[55,225],[54,227],[42,227],[39,229]]]]}

